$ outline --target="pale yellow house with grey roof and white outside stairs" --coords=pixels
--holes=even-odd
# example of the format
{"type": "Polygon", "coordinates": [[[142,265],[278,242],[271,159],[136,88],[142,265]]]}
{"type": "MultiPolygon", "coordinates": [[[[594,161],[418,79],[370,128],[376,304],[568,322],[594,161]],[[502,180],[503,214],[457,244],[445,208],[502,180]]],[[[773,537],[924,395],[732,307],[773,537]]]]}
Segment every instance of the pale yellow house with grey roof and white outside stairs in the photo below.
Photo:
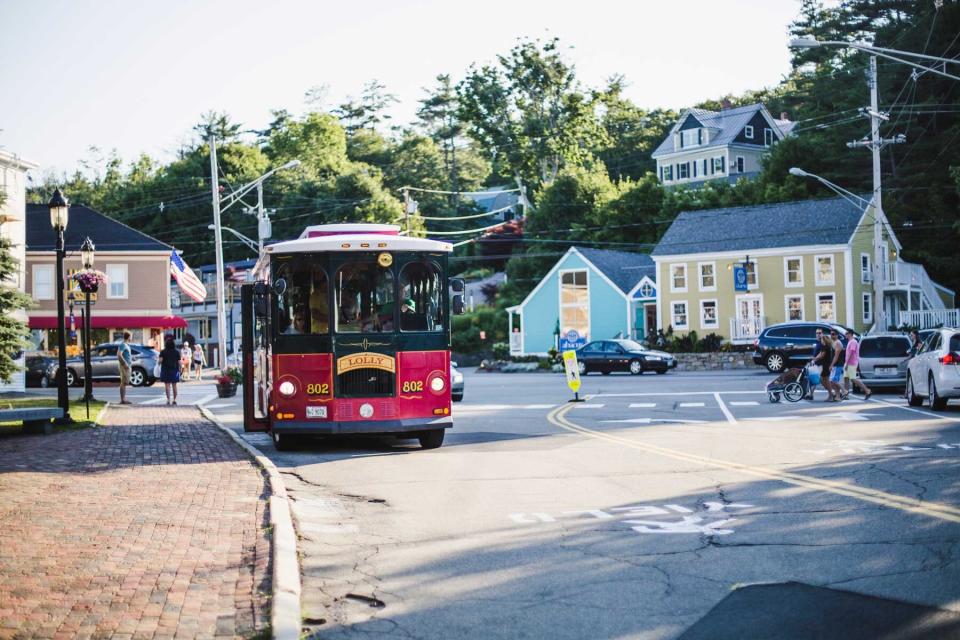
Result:
{"type": "Polygon", "coordinates": [[[864,332],[874,328],[879,304],[893,326],[955,314],[954,292],[922,265],[900,259],[889,225],[882,237],[886,260],[874,269],[873,207],[845,198],[683,212],[651,254],[659,324],[749,344],[780,322],[835,322],[864,332]],[[879,304],[877,273],[884,278],[879,304]]]}

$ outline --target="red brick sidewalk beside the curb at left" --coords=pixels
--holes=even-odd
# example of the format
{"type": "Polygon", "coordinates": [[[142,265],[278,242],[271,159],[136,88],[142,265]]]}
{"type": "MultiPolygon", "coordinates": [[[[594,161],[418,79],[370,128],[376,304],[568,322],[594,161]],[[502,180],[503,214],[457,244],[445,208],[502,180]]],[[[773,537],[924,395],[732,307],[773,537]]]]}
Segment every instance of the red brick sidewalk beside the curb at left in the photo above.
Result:
{"type": "Polygon", "coordinates": [[[269,624],[267,484],[195,407],[0,439],[0,638],[249,637],[269,624]]]}

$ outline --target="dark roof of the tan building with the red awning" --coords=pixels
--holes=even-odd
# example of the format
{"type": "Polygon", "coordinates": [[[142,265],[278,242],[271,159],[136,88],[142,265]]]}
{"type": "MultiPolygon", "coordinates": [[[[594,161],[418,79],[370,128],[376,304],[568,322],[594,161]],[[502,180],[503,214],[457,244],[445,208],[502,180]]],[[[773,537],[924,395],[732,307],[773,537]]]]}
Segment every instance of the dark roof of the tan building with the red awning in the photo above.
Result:
{"type": "MultiPolygon", "coordinates": [[[[27,205],[26,228],[27,251],[56,249],[56,238],[50,227],[50,209],[47,205],[27,205]]],[[[170,245],[82,204],[70,205],[70,218],[63,235],[64,246],[68,251],[79,251],[87,237],[93,240],[97,251],[173,250],[170,245]]]]}

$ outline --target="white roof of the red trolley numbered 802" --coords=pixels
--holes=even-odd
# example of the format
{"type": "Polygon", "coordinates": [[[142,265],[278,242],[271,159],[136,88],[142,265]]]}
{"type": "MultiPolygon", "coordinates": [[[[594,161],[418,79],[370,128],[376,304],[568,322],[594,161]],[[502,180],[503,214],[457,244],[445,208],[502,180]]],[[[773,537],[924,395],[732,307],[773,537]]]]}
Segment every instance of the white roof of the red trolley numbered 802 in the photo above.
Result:
{"type": "Polygon", "coordinates": [[[434,251],[450,253],[449,242],[400,235],[393,224],[318,224],[307,227],[296,240],[264,247],[264,252],[306,253],[311,251],[434,251]]]}

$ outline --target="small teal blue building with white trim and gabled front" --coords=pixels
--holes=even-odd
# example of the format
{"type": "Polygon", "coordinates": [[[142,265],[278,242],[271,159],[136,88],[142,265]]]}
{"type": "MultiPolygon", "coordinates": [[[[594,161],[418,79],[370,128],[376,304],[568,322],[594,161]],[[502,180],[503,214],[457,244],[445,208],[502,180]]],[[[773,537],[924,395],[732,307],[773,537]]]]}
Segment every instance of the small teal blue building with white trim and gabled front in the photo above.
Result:
{"type": "Polygon", "coordinates": [[[643,340],[657,331],[656,267],[645,254],[571,247],[507,314],[511,355],[643,340]]]}

